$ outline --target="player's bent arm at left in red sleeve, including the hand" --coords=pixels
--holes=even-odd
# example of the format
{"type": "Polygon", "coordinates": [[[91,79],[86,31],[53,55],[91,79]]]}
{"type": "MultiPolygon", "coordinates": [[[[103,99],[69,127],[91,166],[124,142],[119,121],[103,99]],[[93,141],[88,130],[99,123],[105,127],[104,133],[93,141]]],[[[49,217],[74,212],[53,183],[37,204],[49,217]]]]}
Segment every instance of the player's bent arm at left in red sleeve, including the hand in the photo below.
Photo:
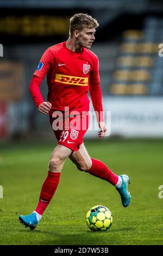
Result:
{"type": "Polygon", "coordinates": [[[33,98],[33,101],[35,102],[35,105],[39,111],[44,114],[47,114],[50,111],[52,104],[51,102],[43,100],[42,94],[40,92],[40,85],[48,69],[51,67],[52,58],[53,55],[51,51],[47,49],[40,59],[39,65],[33,74],[33,78],[29,86],[29,92],[33,98]]]}

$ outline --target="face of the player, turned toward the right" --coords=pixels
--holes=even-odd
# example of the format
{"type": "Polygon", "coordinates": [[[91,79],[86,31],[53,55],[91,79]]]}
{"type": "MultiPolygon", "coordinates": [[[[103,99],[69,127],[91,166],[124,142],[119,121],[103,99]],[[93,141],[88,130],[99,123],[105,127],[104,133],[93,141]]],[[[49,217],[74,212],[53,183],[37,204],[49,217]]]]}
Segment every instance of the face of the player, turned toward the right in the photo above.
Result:
{"type": "Polygon", "coordinates": [[[95,40],[95,28],[84,28],[78,33],[78,44],[80,47],[91,48],[92,42],[95,40]]]}

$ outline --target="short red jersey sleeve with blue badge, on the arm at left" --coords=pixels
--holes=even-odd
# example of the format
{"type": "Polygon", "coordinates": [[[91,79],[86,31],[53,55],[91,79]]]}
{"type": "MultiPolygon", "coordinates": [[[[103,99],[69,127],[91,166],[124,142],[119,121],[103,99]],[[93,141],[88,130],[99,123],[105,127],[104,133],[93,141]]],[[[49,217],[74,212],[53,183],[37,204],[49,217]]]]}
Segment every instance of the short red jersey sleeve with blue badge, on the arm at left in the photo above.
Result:
{"type": "Polygon", "coordinates": [[[40,77],[42,80],[45,77],[47,71],[51,68],[52,62],[54,60],[53,53],[48,48],[42,55],[39,65],[37,66],[34,76],[40,77]]]}

